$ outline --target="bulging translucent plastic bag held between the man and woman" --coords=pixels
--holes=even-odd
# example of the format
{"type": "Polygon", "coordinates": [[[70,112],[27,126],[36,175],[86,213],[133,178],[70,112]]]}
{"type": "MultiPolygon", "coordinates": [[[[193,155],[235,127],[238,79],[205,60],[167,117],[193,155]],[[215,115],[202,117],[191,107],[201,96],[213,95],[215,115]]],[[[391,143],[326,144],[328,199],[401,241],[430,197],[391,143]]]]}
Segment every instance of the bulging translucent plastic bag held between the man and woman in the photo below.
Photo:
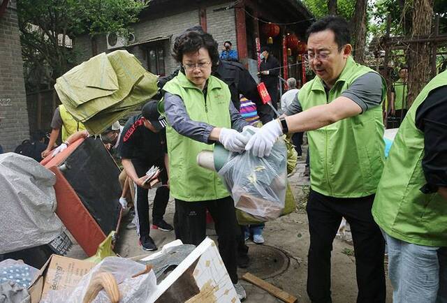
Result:
{"type": "MultiPolygon", "coordinates": [[[[251,136],[248,131],[244,135],[251,136]]],[[[244,151],[232,153],[219,170],[235,207],[261,221],[276,219],[284,209],[287,186],[287,148],[282,138],[270,156],[259,158],[244,151]]]]}

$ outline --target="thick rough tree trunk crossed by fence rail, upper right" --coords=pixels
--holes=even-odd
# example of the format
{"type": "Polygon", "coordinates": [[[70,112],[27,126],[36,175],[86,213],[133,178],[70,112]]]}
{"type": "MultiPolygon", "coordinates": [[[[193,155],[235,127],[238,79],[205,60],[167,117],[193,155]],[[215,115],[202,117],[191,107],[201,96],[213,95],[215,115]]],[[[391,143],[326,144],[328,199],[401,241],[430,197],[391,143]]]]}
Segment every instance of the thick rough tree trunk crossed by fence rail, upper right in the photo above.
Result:
{"type": "MultiPolygon", "coordinates": [[[[413,3],[413,29],[411,37],[430,35],[432,29],[433,0],[414,0],[413,3]]],[[[409,77],[408,108],[420,93],[420,90],[430,81],[430,43],[411,43],[409,46],[409,77]]]]}

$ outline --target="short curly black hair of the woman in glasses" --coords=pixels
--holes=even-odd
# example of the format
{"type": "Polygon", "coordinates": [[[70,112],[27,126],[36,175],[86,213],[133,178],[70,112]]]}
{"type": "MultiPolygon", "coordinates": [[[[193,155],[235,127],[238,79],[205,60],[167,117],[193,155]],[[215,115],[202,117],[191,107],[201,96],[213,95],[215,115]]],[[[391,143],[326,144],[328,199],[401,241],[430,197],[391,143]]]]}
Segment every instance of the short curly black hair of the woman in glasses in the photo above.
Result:
{"type": "Polygon", "coordinates": [[[205,47],[210,54],[212,70],[215,71],[219,63],[219,50],[217,50],[217,42],[210,34],[200,31],[185,31],[183,34],[175,38],[173,57],[180,64],[183,55],[189,52],[198,52],[200,48],[205,47]]]}

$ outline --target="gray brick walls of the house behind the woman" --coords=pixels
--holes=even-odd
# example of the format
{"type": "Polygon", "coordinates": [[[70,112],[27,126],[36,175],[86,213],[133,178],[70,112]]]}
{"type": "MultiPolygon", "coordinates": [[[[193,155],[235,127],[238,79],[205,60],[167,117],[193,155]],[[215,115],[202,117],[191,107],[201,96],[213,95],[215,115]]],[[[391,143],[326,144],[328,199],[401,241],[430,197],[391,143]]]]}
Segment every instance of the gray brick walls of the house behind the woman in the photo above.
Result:
{"type": "MultiPolygon", "coordinates": [[[[207,31],[213,35],[219,43],[219,52],[223,47],[223,42],[230,40],[233,49],[237,49],[235,30],[235,10],[216,10],[228,6],[232,2],[219,4],[219,6],[209,6],[206,8],[207,31]]],[[[200,24],[198,10],[189,10],[168,17],[151,18],[133,25],[135,42],[149,40],[160,36],[171,36],[169,40],[163,40],[162,45],[165,52],[165,70],[169,75],[179,66],[172,57],[172,49],[175,37],[194,25],[200,24]]],[[[78,62],[86,61],[91,57],[91,42],[89,37],[81,36],[75,38],[75,50],[78,53],[78,62]]],[[[107,50],[105,36],[98,37],[97,50],[100,52],[110,52],[107,50]]],[[[128,47],[127,50],[140,60],[142,66],[148,69],[147,54],[143,47],[128,47]]]]}

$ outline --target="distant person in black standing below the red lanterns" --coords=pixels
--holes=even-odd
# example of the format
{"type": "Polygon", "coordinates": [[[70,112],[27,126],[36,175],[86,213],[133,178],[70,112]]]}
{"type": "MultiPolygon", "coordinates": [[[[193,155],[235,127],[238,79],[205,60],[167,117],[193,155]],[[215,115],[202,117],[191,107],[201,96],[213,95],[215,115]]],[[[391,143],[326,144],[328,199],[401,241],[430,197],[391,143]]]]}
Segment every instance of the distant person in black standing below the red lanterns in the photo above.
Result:
{"type": "MultiPolygon", "coordinates": [[[[264,82],[265,88],[272,98],[272,105],[274,108],[278,108],[278,85],[279,85],[279,72],[281,68],[279,68],[279,61],[270,54],[270,47],[263,46],[261,47],[261,65],[259,66],[258,76],[261,79],[261,82],[264,82]]],[[[273,111],[270,110],[270,117],[268,121],[271,121],[274,117],[273,111]]],[[[263,121],[265,123],[265,121],[263,121]]]]}

